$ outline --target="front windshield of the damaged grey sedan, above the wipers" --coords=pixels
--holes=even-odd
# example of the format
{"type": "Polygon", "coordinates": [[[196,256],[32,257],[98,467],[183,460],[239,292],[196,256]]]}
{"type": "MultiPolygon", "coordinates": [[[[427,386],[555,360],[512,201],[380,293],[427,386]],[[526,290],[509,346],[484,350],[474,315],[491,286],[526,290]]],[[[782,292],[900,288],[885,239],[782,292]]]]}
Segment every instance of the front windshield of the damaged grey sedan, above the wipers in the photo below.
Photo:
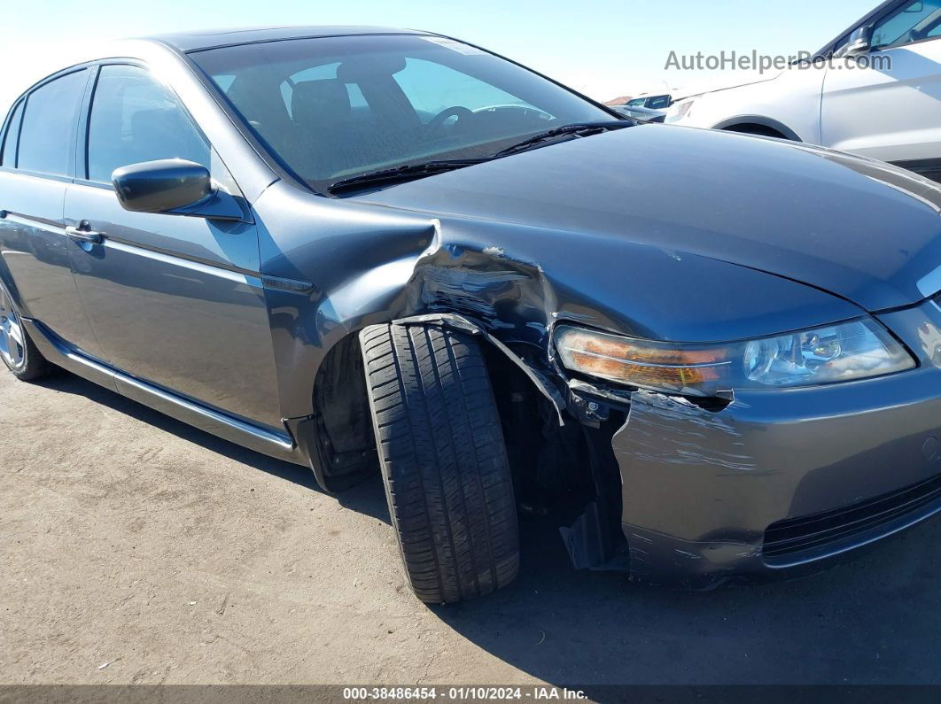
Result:
{"type": "Polygon", "coordinates": [[[475,159],[611,113],[452,39],[289,39],[190,54],[263,143],[316,191],[401,164],[475,159]]]}

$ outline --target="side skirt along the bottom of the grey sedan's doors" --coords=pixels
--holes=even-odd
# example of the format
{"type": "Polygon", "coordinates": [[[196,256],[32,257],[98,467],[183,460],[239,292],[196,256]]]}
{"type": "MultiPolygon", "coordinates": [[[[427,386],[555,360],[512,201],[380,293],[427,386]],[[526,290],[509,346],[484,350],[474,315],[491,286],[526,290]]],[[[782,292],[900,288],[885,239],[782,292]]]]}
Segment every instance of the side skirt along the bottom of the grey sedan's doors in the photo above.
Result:
{"type": "Polygon", "coordinates": [[[295,464],[310,466],[303,451],[287,431],[279,433],[253,425],[239,418],[199,405],[189,399],[170,393],[151,383],[108,367],[74,352],[48,332],[40,322],[23,319],[26,332],[50,362],[73,374],[116,391],[121,396],[136,400],[164,415],[183,421],[199,430],[205,430],[224,440],[295,464]]]}

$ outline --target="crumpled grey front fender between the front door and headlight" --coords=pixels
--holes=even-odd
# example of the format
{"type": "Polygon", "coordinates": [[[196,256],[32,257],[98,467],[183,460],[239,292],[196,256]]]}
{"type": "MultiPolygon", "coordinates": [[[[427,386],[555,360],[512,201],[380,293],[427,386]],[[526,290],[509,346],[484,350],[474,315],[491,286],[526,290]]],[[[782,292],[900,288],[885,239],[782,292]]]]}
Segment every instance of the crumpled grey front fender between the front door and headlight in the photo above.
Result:
{"type": "Polygon", "coordinates": [[[311,414],[317,369],[344,336],[416,315],[464,316],[548,363],[559,321],[704,341],[758,336],[772,317],[822,324],[859,314],[786,279],[617,238],[324,198],[281,182],[253,208],[263,276],[312,285],[264,293],[285,417],[311,414]],[[748,297],[758,279],[767,295],[748,297]],[[710,295],[686,280],[714,282],[710,295]],[[732,301],[741,319],[727,316],[732,301]]]}

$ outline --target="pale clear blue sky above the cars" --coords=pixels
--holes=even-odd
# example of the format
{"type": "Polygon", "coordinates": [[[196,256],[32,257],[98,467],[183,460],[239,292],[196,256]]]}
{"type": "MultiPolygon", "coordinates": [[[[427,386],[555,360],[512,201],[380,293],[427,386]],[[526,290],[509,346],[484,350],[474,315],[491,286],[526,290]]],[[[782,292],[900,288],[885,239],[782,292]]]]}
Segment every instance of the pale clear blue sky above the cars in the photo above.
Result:
{"type": "MultiPolygon", "coordinates": [[[[12,2],[12,0],[7,0],[12,2]]],[[[0,110],[96,43],[161,32],[290,24],[424,29],[506,55],[600,101],[721,84],[664,67],[671,52],[814,51],[878,0],[21,0],[4,14],[0,110]]]]}

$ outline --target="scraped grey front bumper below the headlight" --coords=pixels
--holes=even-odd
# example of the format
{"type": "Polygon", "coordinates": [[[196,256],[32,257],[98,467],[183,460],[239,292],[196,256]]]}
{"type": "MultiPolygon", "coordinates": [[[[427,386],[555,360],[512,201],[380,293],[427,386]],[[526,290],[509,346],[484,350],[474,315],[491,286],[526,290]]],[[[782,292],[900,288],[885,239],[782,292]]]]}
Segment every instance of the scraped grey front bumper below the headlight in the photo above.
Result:
{"type": "Polygon", "coordinates": [[[719,412],[632,395],[612,446],[633,577],[708,588],[814,570],[941,512],[941,307],[880,320],[917,369],[739,393],[719,412]]]}

